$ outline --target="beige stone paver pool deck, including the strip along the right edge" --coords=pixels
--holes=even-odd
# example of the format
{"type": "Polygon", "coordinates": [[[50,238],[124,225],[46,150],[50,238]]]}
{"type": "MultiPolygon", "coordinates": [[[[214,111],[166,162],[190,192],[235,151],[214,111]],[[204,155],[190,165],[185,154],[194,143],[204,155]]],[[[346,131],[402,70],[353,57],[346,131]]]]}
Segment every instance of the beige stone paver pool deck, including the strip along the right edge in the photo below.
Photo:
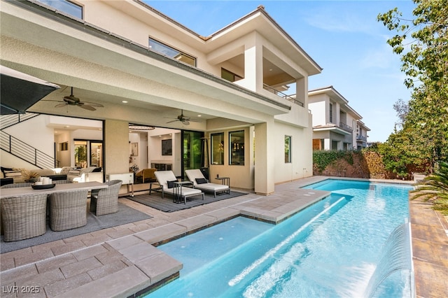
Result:
{"type": "MultiPolygon", "coordinates": [[[[270,196],[251,193],[174,213],[120,198],[153,218],[1,254],[0,296],[27,297],[34,290],[34,297],[85,297],[87,293],[89,297],[136,297],[176,278],[182,268],[153,244],[237,215],[279,222],[326,197],[328,192],[299,187],[327,178],[295,180],[276,185],[270,196]]],[[[448,292],[447,220],[427,204],[411,201],[409,207],[416,296],[444,297],[448,292]]]]}

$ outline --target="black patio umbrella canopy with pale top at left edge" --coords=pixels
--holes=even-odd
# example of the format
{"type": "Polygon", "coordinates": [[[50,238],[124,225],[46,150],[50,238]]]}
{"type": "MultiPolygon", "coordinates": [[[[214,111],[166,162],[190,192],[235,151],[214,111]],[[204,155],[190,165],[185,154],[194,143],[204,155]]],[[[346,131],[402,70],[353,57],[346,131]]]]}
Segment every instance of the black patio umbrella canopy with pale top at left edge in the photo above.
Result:
{"type": "Polygon", "coordinates": [[[5,66],[0,66],[0,73],[0,115],[25,113],[27,108],[60,88],[58,85],[5,66]]]}

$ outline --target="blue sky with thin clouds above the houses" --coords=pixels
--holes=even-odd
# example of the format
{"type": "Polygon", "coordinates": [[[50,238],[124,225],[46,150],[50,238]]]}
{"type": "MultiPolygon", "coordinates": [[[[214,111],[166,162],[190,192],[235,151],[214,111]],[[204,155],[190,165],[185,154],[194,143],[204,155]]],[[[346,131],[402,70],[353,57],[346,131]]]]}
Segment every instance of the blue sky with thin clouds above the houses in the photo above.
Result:
{"type": "Polygon", "coordinates": [[[393,104],[409,100],[400,57],[386,40],[394,35],[379,13],[398,7],[412,19],[412,1],[145,1],[161,13],[208,36],[265,6],[267,13],[322,68],[309,90],[332,85],[371,129],[368,141],[384,142],[398,121],[393,104]]]}

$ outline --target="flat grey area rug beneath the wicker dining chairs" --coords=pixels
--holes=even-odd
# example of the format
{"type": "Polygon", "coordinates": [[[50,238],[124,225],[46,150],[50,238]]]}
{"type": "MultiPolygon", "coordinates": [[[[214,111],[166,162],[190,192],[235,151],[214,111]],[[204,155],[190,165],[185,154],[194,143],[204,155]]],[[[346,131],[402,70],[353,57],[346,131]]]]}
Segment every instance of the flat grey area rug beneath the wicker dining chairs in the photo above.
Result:
{"type": "Polygon", "coordinates": [[[9,251],[13,250],[28,248],[30,246],[37,246],[39,244],[78,236],[80,234],[87,234],[90,232],[98,231],[100,229],[116,227],[118,225],[125,225],[130,222],[148,220],[149,218],[153,217],[118,202],[117,213],[95,216],[94,214],[87,212],[87,225],[85,225],[84,227],[78,227],[76,229],[69,229],[61,232],[54,232],[50,229],[49,226],[47,226],[47,232],[45,232],[45,234],[41,236],[12,242],[3,241],[2,235],[0,250],[1,253],[8,253],[9,251]]]}

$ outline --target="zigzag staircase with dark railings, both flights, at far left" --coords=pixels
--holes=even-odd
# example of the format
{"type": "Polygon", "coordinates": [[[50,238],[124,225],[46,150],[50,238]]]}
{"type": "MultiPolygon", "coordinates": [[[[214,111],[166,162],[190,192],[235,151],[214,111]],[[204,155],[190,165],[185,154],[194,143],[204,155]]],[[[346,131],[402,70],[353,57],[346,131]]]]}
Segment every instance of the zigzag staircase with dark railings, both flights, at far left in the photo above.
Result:
{"type": "Polygon", "coordinates": [[[10,155],[25,160],[25,162],[37,166],[38,168],[51,169],[57,166],[55,157],[52,157],[3,131],[3,129],[6,129],[7,127],[12,127],[13,125],[17,125],[20,122],[37,117],[38,115],[39,114],[36,113],[1,115],[0,148],[10,155]]]}

